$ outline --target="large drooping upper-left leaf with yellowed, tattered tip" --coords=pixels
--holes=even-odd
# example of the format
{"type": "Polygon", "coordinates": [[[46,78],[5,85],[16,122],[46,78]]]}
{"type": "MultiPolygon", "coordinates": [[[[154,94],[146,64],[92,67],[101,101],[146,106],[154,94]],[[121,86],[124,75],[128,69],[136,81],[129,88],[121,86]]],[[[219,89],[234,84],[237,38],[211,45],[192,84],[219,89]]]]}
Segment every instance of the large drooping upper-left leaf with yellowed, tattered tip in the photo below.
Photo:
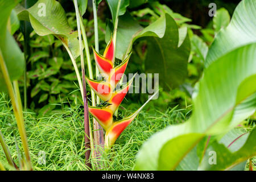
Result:
{"type": "Polygon", "coordinates": [[[78,34],[69,26],[65,11],[59,2],[39,0],[27,10],[17,6],[16,11],[20,20],[30,21],[36,34],[40,36],[55,35],[71,50],[75,58],[79,56],[78,34]]]}

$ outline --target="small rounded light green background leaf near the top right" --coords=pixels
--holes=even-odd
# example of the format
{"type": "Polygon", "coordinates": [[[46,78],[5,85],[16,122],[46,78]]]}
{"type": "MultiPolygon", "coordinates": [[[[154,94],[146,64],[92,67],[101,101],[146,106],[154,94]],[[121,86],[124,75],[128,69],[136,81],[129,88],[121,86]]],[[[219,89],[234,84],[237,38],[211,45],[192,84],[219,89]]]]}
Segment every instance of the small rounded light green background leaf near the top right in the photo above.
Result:
{"type": "Polygon", "coordinates": [[[229,22],[230,16],[228,10],[226,10],[224,7],[218,9],[216,16],[213,16],[213,28],[215,32],[218,32],[221,30],[221,28],[228,26],[229,22]]]}

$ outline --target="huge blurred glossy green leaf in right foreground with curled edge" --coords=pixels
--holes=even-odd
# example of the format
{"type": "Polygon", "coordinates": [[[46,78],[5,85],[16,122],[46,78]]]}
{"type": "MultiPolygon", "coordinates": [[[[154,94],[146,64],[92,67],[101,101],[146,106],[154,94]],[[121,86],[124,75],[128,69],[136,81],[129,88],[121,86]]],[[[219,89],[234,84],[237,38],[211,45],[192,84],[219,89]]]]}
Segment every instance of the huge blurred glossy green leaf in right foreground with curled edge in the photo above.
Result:
{"type": "MultiPolygon", "coordinates": [[[[205,69],[193,95],[189,121],[170,126],[144,143],[135,169],[175,169],[206,135],[226,133],[238,125],[241,120],[233,119],[236,107],[256,92],[255,49],[256,44],[243,46],[205,69]]],[[[255,97],[250,101],[249,107],[255,109],[255,97]]]]}

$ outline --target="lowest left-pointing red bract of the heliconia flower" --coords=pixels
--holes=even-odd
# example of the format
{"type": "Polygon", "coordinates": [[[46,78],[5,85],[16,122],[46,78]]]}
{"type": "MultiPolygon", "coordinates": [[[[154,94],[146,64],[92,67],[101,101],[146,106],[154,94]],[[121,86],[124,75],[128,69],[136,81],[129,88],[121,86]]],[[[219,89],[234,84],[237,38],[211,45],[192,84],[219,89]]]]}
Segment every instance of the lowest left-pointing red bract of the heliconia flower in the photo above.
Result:
{"type": "Polygon", "coordinates": [[[106,107],[89,106],[89,112],[100,123],[100,125],[108,130],[113,125],[113,112],[106,107]]]}

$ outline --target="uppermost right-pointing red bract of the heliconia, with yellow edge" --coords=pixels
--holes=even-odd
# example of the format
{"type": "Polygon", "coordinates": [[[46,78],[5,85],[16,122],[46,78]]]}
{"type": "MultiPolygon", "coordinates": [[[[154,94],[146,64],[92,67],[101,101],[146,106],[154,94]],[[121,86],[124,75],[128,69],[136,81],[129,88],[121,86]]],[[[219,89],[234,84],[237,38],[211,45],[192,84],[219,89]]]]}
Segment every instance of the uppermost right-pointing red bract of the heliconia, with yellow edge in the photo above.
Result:
{"type": "Polygon", "coordinates": [[[110,84],[114,88],[115,88],[115,86],[117,86],[118,82],[122,78],[123,73],[125,73],[125,69],[127,67],[130,57],[131,57],[131,53],[129,56],[127,56],[127,58],[121,64],[119,64],[117,67],[113,68],[112,71],[110,72],[110,77],[109,77],[110,80],[109,81],[110,81],[110,84]]]}

